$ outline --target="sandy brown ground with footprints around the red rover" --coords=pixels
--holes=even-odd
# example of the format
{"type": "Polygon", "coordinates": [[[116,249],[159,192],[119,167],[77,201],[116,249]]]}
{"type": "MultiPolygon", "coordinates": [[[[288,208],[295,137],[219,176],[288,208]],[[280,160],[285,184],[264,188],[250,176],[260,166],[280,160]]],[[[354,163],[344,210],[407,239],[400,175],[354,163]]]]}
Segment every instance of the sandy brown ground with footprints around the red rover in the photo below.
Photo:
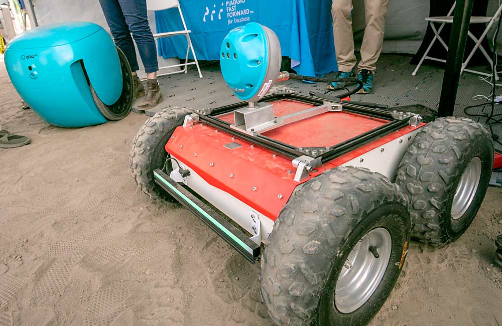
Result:
{"type": "MultiPolygon", "coordinates": [[[[0,326],[267,325],[258,265],[195,216],[137,190],[129,150],[144,115],[52,127],[0,64],[0,115],[32,144],[0,149],[0,326]]],[[[502,189],[490,188],[465,235],[412,244],[372,325],[502,325],[502,189]]]]}

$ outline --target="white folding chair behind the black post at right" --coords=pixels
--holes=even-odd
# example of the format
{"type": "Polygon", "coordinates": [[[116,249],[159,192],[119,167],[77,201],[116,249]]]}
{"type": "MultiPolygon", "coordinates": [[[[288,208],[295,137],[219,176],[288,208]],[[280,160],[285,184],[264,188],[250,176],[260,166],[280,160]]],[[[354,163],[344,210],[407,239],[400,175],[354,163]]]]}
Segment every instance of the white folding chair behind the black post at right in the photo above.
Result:
{"type": "MultiPolygon", "coordinates": [[[[429,57],[428,54],[431,51],[432,46],[434,45],[436,40],[439,41],[439,43],[441,43],[443,45],[443,47],[446,49],[446,51],[448,51],[448,46],[441,38],[440,33],[446,24],[453,23],[453,16],[451,16],[451,15],[453,14],[453,11],[455,10],[455,5],[456,5],[456,2],[453,4],[453,7],[451,7],[447,16],[428,17],[425,19],[431,25],[431,29],[434,32],[434,38],[432,39],[431,44],[429,44],[429,47],[427,48],[424,55],[422,56],[422,59],[420,59],[420,62],[418,63],[417,68],[415,68],[415,71],[413,71],[412,76],[417,75],[418,69],[420,68],[420,66],[422,65],[422,63],[424,62],[425,59],[446,63],[446,60],[429,57]],[[439,29],[436,29],[436,26],[434,26],[434,23],[441,23],[441,26],[439,27],[439,29]]],[[[462,75],[462,73],[464,71],[467,71],[467,72],[471,72],[471,73],[482,75],[482,76],[491,76],[491,74],[477,71],[477,70],[466,69],[466,67],[469,64],[469,61],[472,59],[472,56],[474,55],[474,53],[476,52],[477,49],[479,49],[479,51],[481,51],[481,53],[484,55],[484,57],[486,58],[486,60],[490,64],[490,66],[493,65],[493,61],[491,60],[488,53],[486,53],[486,50],[481,45],[481,42],[486,37],[486,34],[488,34],[488,31],[493,26],[493,24],[498,22],[498,20],[500,19],[501,12],[502,12],[502,6],[500,6],[498,8],[498,10],[496,11],[495,15],[493,15],[493,17],[471,17],[470,24],[487,24],[487,25],[486,25],[486,28],[485,28],[483,34],[481,34],[481,37],[479,39],[477,39],[470,31],[468,31],[467,35],[469,35],[469,37],[472,39],[472,41],[474,41],[475,45],[474,45],[474,48],[472,48],[472,51],[467,56],[467,59],[465,59],[465,62],[462,64],[462,69],[460,70],[460,75],[462,75]]],[[[498,80],[498,79],[499,79],[498,74],[495,71],[495,80],[498,80]]]]}

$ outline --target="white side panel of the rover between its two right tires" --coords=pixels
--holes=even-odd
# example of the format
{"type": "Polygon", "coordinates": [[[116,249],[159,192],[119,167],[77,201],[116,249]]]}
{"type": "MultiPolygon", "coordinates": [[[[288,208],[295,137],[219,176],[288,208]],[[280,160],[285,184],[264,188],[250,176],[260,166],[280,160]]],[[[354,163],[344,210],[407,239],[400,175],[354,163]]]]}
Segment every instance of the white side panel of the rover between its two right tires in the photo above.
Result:
{"type": "Polygon", "coordinates": [[[417,128],[406,135],[376,147],[375,149],[345,162],[342,166],[366,168],[372,172],[383,174],[394,182],[396,180],[399,162],[420,129],[421,128],[417,128]]]}

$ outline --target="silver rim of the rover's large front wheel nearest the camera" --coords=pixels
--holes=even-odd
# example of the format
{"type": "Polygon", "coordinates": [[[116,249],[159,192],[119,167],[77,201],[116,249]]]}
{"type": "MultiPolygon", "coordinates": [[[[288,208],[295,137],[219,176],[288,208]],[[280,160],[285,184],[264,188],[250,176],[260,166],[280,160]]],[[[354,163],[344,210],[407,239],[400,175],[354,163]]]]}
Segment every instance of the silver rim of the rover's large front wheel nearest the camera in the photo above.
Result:
{"type": "Polygon", "coordinates": [[[371,297],[384,277],[391,250],[391,234],[384,228],[369,231],[352,248],[336,282],[334,302],[338,311],[355,311],[371,297]],[[370,246],[376,248],[379,258],[369,251],[370,246]]]}

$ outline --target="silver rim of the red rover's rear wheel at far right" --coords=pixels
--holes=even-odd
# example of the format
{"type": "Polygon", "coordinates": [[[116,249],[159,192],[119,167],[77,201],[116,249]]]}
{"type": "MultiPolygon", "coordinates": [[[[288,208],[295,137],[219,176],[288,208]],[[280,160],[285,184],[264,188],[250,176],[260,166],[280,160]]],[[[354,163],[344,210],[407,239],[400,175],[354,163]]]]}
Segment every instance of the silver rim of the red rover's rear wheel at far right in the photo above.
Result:
{"type": "Polygon", "coordinates": [[[455,191],[455,196],[453,196],[453,204],[451,205],[452,219],[458,220],[465,214],[476,195],[480,179],[481,159],[479,159],[479,157],[473,157],[467,165],[467,168],[465,168],[457,190],[455,191]]]}

